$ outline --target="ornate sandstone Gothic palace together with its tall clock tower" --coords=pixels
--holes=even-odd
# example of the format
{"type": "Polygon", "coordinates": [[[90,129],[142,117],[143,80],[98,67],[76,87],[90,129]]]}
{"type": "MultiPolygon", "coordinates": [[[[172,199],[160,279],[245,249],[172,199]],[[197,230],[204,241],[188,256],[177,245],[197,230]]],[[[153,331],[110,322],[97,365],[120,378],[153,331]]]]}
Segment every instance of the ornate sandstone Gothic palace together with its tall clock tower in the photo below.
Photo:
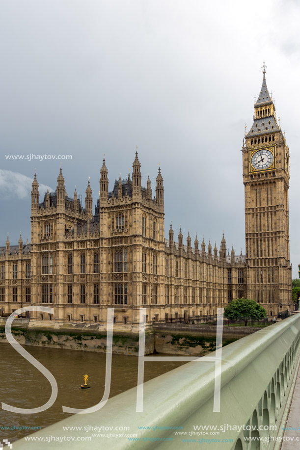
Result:
{"type": "MultiPolygon", "coordinates": [[[[238,150],[237,150],[238,151],[238,150]]],[[[85,203],[66,193],[62,170],[55,192],[31,190],[31,242],[0,249],[0,313],[50,306],[54,314],[30,312],[33,320],[106,324],[107,308],[121,329],[134,329],[139,309],[146,321],[217,314],[233,299],[255,299],[276,316],[291,308],[289,261],[289,148],[276,120],[265,67],[254,104],[253,125],[242,148],[245,185],[245,255],[198,242],[172,225],[165,239],[164,180],[155,195],[141,185],[138,155],[132,176],[109,191],[105,159],[93,210],[88,181],[85,203]]]]}

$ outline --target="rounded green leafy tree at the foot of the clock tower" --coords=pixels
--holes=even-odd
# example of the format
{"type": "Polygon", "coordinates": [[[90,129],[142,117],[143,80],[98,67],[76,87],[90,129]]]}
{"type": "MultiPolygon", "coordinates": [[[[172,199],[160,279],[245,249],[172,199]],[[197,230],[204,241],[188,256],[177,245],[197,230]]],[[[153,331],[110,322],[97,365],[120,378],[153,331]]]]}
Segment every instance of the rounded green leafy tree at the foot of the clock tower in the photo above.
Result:
{"type": "Polygon", "coordinates": [[[248,318],[262,319],[267,317],[267,311],[255,300],[237,298],[226,306],[224,316],[232,320],[243,318],[245,326],[247,326],[248,318]]]}

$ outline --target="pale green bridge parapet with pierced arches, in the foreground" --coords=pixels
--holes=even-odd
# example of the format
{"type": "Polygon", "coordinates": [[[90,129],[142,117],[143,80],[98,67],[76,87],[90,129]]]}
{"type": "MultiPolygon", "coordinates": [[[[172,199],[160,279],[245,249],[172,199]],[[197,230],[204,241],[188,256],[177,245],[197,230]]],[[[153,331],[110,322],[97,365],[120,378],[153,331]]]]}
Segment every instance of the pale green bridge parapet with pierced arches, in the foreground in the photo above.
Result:
{"type": "Polygon", "coordinates": [[[215,363],[200,358],[144,383],[143,412],[136,412],[133,388],[110,398],[95,413],[76,414],[31,435],[75,440],[41,445],[23,438],[13,443],[13,450],[278,449],[274,439],[283,434],[299,349],[300,315],[295,315],[222,349],[220,412],[213,412],[215,363]],[[111,428],[95,436],[94,427],[102,425],[111,428]],[[63,426],[79,429],[66,431],[63,426]],[[122,431],[115,430],[120,426],[122,431]],[[130,429],[124,431],[125,426],[130,429]],[[87,436],[91,440],[83,442],[87,436]]]}

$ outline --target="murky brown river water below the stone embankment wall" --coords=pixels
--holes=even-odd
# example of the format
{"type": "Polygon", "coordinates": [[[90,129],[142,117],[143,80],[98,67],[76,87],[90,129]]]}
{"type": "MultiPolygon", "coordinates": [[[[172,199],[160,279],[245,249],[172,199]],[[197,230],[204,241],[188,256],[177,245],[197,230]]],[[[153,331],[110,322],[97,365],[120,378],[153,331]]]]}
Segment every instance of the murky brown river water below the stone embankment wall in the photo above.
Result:
{"type": "MultiPolygon", "coordinates": [[[[37,414],[16,414],[0,409],[0,436],[11,442],[35,430],[12,429],[21,426],[54,424],[70,414],[62,412],[62,405],[88,408],[97,404],[105,387],[105,353],[25,346],[26,350],[55,377],[58,395],[55,403],[37,414]],[[87,373],[90,389],[81,389],[87,373]],[[9,427],[9,429],[4,429],[9,427]]],[[[159,356],[163,356],[160,354],[159,356]]],[[[158,357],[159,357],[158,356],[158,357]]],[[[0,344],[1,388],[0,402],[18,408],[36,408],[51,396],[51,386],[44,375],[17,353],[10,344],[0,344]]],[[[113,397],[136,386],[137,362],[134,356],[112,355],[110,395],[113,397]]],[[[181,366],[182,362],[146,362],[144,381],[181,366]]]]}

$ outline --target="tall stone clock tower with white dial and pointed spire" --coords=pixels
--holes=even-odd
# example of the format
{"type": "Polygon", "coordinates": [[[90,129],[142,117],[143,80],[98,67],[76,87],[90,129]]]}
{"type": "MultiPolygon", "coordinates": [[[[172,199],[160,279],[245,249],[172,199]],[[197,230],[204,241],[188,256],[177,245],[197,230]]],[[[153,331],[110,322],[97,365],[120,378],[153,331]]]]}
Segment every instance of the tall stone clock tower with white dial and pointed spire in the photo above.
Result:
{"type": "Polygon", "coordinates": [[[266,82],[254,105],[254,120],[245,134],[245,240],[247,297],[269,315],[290,308],[292,277],[289,244],[289,148],[277,122],[266,82]]]}

